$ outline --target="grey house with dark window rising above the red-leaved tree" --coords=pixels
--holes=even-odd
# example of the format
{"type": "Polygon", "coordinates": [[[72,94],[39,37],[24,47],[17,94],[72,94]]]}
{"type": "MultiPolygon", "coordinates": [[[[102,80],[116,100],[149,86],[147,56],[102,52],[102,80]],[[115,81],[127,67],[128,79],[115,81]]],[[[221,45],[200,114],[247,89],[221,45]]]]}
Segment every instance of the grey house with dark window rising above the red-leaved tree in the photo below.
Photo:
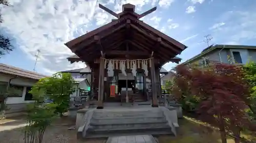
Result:
{"type": "Polygon", "coordinates": [[[199,64],[207,65],[209,61],[226,64],[246,64],[249,61],[256,62],[256,46],[211,45],[204,49],[200,54],[182,64],[199,62],[199,64]]]}

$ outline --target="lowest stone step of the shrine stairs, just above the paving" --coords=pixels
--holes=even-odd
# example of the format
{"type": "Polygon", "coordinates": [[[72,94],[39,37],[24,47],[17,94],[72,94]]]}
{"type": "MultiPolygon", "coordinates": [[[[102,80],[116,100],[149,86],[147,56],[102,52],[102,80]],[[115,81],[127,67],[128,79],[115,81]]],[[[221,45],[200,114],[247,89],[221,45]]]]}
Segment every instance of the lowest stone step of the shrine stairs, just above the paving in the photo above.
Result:
{"type": "Polygon", "coordinates": [[[94,137],[110,137],[110,136],[122,136],[122,135],[145,135],[145,134],[173,134],[169,127],[166,128],[140,128],[140,129],[116,129],[116,130],[97,130],[89,131],[86,134],[86,138],[94,137]]]}

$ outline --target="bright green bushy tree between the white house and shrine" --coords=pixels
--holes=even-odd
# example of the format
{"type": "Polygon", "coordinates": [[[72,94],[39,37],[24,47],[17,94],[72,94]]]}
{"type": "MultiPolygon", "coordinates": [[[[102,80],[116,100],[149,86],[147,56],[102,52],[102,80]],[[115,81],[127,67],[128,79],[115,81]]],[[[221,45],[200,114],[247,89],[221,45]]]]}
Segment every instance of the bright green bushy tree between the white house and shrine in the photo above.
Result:
{"type": "Polygon", "coordinates": [[[70,95],[74,90],[74,79],[70,73],[57,72],[52,77],[40,79],[32,88],[31,92],[44,89],[47,96],[45,98],[51,99],[56,106],[56,113],[62,116],[69,107],[70,95]]]}

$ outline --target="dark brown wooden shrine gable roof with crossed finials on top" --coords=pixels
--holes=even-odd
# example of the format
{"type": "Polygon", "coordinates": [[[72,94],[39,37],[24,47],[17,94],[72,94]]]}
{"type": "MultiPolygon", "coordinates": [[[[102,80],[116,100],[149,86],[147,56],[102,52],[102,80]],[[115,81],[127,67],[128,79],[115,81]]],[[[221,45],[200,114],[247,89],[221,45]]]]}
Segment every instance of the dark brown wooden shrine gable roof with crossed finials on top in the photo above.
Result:
{"type": "MultiPolygon", "coordinates": [[[[102,5],[100,7],[105,8],[102,5]]],[[[108,12],[118,19],[65,45],[89,65],[100,56],[109,59],[124,59],[127,56],[129,59],[146,59],[154,56],[161,66],[172,61],[186,48],[180,42],[139,20],[145,13],[150,12],[139,15],[134,10],[135,6],[131,4],[123,5],[123,11],[119,14],[108,9],[108,12]]]]}

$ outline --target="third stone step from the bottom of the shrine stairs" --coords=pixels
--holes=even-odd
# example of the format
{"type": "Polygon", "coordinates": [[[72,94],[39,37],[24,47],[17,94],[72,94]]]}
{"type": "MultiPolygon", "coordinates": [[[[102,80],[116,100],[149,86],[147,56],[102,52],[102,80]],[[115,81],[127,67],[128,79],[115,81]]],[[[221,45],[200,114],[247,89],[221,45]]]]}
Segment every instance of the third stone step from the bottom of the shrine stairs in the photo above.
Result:
{"type": "Polygon", "coordinates": [[[134,123],[162,123],[166,122],[163,117],[154,118],[120,118],[117,119],[94,119],[91,121],[91,125],[106,125],[106,124],[134,124],[134,123]]]}

